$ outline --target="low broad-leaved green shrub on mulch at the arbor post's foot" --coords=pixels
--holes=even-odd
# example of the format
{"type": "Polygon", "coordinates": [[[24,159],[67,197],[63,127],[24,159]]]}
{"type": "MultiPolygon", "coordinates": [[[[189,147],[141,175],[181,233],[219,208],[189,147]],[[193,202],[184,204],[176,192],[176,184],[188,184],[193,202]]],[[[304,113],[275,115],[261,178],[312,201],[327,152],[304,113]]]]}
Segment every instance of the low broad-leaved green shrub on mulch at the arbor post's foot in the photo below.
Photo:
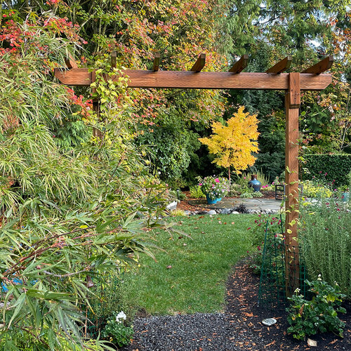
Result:
{"type": "Polygon", "coordinates": [[[291,306],[286,308],[291,325],[288,333],[293,333],[293,337],[298,340],[326,331],[343,337],[345,323],[338,318],[338,312],[346,313],[345,308],[340,307],[345,295],[340,293],[338,284],[330,286],[322,282],[320,277],[314,282],[306,280],[305,283],[310,286],[308,291],[314,296],[312,300],[305,300],[302,295],[298,295],[300,289],[296,289],[296,295],[288,298],[291,301],[291,306]]]}

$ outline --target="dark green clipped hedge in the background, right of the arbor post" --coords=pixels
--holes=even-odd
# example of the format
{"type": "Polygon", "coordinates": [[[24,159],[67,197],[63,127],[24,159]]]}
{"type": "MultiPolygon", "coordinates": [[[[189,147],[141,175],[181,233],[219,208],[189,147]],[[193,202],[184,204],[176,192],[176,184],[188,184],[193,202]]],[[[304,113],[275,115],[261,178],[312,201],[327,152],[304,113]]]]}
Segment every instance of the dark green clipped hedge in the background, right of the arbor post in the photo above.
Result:
{"type": "Polygon", "coordinates": [[[307,154],[304,159],[303,179],[335,180],[337,187],[350,184],[351,154],[307,154]]]}

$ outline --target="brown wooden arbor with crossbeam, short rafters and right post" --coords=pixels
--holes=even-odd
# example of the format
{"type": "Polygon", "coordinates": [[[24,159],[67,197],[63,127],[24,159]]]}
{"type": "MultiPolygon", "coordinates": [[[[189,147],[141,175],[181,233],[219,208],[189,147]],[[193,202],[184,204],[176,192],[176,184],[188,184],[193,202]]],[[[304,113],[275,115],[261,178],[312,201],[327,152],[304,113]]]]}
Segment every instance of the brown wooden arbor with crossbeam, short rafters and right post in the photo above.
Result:
{"type": "MultiPolygon", "coordinates": [[[[152,70],[126,69],[128,88],[194,88],[194,89],[254,89],[285,91],[286,108],[286,293],[299,286],[298,258],[298,115],[301,91],[321,91],[331,84],[331,74],[322,74],[333,64],[329,56],[303,72],[282,73],[291,65],[291,56],[277,62],[264,73],[242,72],[248,56],[242,56],[228,72],[201,72],[206,55],[201,53],[189,72],[159,71],[160,56],[154,56],[152,70]]],[[[72,59],[67,60],[67,69],[55,69],[55,77],[63,84],[90,86],[95,81],[95,72],[78,68],[72,59]]],[[[112,54],[112,66],[116,55],[112,54]]],[[[117,80],[119,76],[116,76],[117,80]]],[[[98,102],[95,101],[98,111],[98,102]]]]}

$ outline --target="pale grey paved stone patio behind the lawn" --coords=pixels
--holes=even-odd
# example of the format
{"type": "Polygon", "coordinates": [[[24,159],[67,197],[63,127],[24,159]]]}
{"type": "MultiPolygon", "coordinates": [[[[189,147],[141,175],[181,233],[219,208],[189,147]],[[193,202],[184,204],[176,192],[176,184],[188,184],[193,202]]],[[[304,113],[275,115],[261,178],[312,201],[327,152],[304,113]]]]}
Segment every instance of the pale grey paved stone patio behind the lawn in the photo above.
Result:
{"type": "Polygon", "coordinates": [[[222,199],[217,204],[207,204],[206,199],[197,199],[188,201],[192,206],[220,209],[220,208],[234,208],[239,204],[244,204],[246,208],[252,210],[271,210],[279,211],[282,206],[281,200],[275,199],[222,199]]]}

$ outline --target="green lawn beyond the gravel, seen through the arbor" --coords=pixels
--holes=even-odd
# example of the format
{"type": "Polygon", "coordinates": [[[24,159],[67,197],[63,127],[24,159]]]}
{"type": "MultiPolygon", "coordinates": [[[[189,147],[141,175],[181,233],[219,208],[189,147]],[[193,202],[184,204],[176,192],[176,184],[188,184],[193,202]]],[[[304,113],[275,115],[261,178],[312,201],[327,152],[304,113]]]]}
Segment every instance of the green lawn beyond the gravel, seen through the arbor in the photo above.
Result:
{"type": "Polygon", "coordinates": [[[155,232],[157,262],[140,257],[138,272],[125,275],[127,305],[150,314],[220,312],[225,282],[232,265],[251,251],[251,227],[256,215],[176,217],[191,239],[155,232]],[[169,267],[171,266],[171,268],[169,267]]]}

